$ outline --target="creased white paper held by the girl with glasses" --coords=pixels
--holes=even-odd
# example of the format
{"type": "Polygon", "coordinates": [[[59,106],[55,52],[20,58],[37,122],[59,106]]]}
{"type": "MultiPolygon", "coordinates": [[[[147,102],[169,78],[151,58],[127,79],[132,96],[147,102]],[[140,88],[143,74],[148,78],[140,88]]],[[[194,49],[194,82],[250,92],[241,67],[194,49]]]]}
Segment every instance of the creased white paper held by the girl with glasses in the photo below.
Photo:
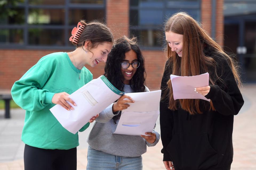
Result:
{"type": "Polygon", "coordinates": [[[122,111],[115,134],[145,135],[152,132],[159,115],[161,90],[140,93],[126,93],[135,102],[122,111]]]}

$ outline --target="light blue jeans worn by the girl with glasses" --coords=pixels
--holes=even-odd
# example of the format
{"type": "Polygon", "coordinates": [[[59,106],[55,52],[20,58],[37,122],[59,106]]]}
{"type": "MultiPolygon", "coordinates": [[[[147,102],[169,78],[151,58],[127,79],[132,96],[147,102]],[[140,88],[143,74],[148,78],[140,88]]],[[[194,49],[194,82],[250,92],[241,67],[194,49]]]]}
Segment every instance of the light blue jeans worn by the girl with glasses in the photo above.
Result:
{"type": "Polygon", "coordinates": [[[142,157],[107,154],[88,147],[87,170],[142,170],[142,157]]]}

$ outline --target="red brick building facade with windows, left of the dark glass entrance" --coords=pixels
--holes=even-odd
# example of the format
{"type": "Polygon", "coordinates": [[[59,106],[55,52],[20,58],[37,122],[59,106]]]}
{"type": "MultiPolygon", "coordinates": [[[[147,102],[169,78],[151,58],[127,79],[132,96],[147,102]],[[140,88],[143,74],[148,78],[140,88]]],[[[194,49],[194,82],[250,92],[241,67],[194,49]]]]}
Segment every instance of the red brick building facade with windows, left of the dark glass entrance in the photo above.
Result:
{"type": "MultiPolygon", "coordinates": [[[[223,45],[223,0],[20,0],[0,21],[0,89],[13,83],[37,61],[53,52],[70,52],[71,30],[80,19],[105,22],[114,38],[138,37],[146,65],[146,86],[158,90],[166,62],[163,24],[172,14],[188,12],[223,45]]],[[[104,63],[87,67],[94,78],[104,63]]]]}

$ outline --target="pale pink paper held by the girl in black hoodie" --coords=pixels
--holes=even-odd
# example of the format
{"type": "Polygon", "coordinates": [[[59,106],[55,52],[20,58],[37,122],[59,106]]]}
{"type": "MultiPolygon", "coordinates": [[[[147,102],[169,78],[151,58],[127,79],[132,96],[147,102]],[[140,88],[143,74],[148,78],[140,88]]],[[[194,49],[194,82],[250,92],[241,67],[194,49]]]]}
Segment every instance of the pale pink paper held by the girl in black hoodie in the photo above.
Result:
{"type": "Polygon", "coordinates": [[[189,77],[171,74],[170,77],[174,100],[203,99],[210,101],[210,99],[194,91],[197,87],[209,86],[209,73],[189,77]]]}

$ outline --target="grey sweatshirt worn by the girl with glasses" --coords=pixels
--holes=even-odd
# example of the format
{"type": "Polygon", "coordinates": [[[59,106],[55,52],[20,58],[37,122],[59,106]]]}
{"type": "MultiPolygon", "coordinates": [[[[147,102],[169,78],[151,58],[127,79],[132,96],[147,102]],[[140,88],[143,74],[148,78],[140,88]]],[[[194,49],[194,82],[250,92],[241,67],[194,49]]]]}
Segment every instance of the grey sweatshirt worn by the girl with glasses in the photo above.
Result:
{"type": "MultiPolygon", "coordinates": [[[[149,91],[149,89],[146,87],[145,91],[149,91]]],[[[124,84],[124,92],[133,92],[130,85],[124,84]]],[[[147,151],[147,146],[155,146],[158,143],[160,135],[154,129],[153,133],[156,134],[157,138],[152,144],[141,136],[113,134],[117,128],[118,121],[115,124],[112,118],[119,112],[113,114],[112,105],[113,103],[99,113],[99,117],[96,118],[93,128],[87,137],[90,147],[116,156],[136,157],[144,154],[147,151]]]]}

